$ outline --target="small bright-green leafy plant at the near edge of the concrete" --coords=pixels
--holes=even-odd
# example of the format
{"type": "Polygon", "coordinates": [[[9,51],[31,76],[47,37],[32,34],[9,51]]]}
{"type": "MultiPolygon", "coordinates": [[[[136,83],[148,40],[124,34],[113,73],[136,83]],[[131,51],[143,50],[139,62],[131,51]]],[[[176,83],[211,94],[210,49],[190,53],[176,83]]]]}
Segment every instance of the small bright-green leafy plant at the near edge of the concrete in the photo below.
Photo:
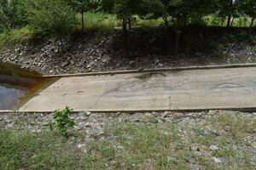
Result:
{"type": "Polygon", "coordinates": [[[74,127],[76,122],[70,119],[69,116],[72,114],[72,109],[66,107],[62,111],[55,111],[53,114],[54,122],[49,122],[49,128],[53,130],[54,128],[61,133],[67,133],[69,127],[74,127]]]}

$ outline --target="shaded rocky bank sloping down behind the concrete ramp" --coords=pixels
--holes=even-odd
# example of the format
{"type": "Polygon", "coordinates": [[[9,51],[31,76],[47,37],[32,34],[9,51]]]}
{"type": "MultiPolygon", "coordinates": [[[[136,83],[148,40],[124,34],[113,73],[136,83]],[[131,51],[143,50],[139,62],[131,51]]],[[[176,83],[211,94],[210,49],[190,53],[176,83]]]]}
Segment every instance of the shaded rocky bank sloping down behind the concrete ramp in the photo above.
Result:
{"type": "Polygon", "coordinates": [[[166,35],[161,29],[134,29],[131,32],[129,52],[121,47],[122,32],[114,29],[64,38],[64,52],[61,42],[55,38],[44,42],[27,42],[16,48],[0,51],[0,62],[13,63],[49,75],[256,61],[255,43],[245,38],[247,31],[243,29],[206,29],[197,32],[190,45],[186,45],[188,40],[184,35],[178,55],[173,54],[173,35],[166,35]],[[188,48],[193,50],[185,53],[188,48]]]}

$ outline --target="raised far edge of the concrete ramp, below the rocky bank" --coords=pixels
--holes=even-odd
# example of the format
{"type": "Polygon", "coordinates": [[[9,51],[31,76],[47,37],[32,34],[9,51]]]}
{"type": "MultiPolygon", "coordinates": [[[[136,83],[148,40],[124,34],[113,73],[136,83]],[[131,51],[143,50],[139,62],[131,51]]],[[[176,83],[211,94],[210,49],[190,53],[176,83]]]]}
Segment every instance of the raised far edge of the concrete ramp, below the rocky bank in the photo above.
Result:
{"type": "Polygon", "coordinates": [[[189,67],[172,67],[162,69],[141,69],[141,70],[127,70],[127,71],[103,71],[103,72],[89,72],[79,74],[60,74],[60,75],[45,75],[43,77],[90,77],[101,75],[115,75],[115,74],[129,74],[129,73],[147,73],[147,72],[160,72],[160,71],[189,71],[189,70],[213,70],[213,69],[228,69],[228,68],[241,68],[241,67],[256,67],[254,64],[236,64],[236,65],[206,65],[206,66],[189,66],[189,67]]]}

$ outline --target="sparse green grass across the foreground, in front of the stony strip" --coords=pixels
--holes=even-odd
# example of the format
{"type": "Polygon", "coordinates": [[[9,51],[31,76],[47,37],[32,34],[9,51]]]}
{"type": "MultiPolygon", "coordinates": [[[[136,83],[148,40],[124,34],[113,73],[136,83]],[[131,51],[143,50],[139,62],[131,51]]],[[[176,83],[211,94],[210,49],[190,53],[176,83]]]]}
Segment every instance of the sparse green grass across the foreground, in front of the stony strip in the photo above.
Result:
{"type": "MultiPolygon", "coordinates": [[[[0,129],[2,169],[253,169],[252,150],[243,150],[255,135],[255,119],[229,113],[206,123],[115,122],[93,140],[84,133],[0,129]],[[236,132],[236,133],[234,133],[236,132]],[[80,141],[79,143],[76,141],[80,141]],[[84,144],[78,148],[78,144],[84,144]],[[210,145],[219,150],[210,150],[210,145]],[[200,154],[198,154],[200,153],[200,154]],[[221,164],[212,157],[227,159],[221,164]]],[[[247,147],[251,147],[250,144],[247,147]]]]}

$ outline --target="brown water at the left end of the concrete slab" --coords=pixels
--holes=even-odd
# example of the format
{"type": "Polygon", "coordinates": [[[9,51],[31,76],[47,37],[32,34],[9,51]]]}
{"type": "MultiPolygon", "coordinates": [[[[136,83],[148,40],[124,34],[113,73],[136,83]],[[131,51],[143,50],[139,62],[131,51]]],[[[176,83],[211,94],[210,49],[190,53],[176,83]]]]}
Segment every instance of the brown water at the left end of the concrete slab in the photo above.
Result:
{"type": "Polygon", "coordinates": [[[38,72],[0,63],[0,111],[17,110],[49,82],[52,81],[41,77],[38,72]]]}

